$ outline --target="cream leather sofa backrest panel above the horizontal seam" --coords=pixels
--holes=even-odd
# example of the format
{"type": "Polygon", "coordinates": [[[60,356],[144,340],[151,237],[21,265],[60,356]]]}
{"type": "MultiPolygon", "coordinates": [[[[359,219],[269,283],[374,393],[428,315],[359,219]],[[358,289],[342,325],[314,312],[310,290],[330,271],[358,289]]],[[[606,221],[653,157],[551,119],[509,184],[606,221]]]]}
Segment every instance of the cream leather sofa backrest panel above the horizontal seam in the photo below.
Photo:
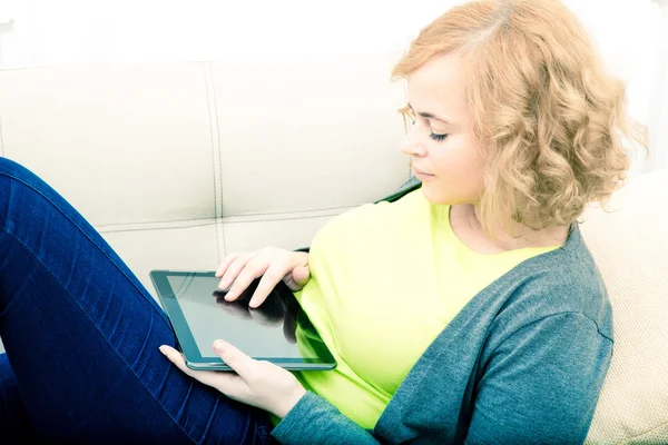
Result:
{"type": "Polygon", "coordinates": [[[317,225],[256,234],[253,222],[340,212],[409,178],[396,112],[405,98],[390,69],[330,56],[307,68],[244,59],[0,70],[1,155],[102,233],[235,221],[248,224],[227,237],[217,224],[222,255],[299,247],[317,225]]]}

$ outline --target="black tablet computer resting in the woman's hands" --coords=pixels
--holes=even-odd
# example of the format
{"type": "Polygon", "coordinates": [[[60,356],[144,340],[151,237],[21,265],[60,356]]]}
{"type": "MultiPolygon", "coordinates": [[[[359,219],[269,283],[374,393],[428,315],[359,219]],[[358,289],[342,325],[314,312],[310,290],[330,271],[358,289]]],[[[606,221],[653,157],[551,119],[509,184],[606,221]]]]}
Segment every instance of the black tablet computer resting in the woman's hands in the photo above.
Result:
{"type": "Polygon", "coordinates": [[[191,369],[230,370],[214,352],[224,339],[259,360],[291,370],[333,369],[336,360],[283,281],[257,308],[248,301],[255,279],[235,301],[226,301],[215,271],[151,270],[150,279],[191,369]]]}

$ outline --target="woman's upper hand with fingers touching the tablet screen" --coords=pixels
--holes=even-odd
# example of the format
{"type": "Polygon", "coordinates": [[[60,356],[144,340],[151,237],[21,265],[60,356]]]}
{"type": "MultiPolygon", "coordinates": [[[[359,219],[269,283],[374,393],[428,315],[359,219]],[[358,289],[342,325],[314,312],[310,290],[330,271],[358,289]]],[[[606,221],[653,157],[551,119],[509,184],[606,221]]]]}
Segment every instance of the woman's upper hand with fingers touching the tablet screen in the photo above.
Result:
{"type": "Polygon", "coordinates": [[[308,254],[271,246],[255,251],[230,254],[216,270],[216,277],[220,278],[220,290],[232,285],[225,295],[227,301],[237,299],[250,283],[261,276],[257,289],[248,303],[250,307],[262,305],[281,280],[292,290],[303,288],[311,278],[308,254]]]}

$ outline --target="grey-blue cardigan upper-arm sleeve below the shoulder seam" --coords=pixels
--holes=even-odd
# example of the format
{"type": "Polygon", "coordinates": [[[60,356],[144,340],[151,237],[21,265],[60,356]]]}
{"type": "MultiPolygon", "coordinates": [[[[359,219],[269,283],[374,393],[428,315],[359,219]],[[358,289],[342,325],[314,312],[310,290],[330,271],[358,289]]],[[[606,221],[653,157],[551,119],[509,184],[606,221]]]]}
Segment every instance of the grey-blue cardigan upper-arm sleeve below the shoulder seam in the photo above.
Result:
{"type": "Polygon", "coordinates": [[[583,443],[611,355],[612,339],[581,313],[510,334],[484,364],[465,443],[583,443]]]}

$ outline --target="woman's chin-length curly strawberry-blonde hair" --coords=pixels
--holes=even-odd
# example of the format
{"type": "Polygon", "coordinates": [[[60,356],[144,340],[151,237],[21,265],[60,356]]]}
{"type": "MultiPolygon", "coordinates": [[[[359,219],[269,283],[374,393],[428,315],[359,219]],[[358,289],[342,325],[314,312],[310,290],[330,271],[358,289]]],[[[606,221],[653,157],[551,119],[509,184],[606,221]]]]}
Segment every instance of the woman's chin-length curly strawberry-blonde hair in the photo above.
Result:
{"type": "MultiPolygon", "coordinates": [[[[487,159],[481,224],[568,226],[627,179],[625,142],[646,145],[578,19],[557,0],[482,0],[451,9],[411,43],[392,77],[462,52],[473,128],[487,159]]],[[[410,112],[407,108],[400,110],[410,112]]]]}

